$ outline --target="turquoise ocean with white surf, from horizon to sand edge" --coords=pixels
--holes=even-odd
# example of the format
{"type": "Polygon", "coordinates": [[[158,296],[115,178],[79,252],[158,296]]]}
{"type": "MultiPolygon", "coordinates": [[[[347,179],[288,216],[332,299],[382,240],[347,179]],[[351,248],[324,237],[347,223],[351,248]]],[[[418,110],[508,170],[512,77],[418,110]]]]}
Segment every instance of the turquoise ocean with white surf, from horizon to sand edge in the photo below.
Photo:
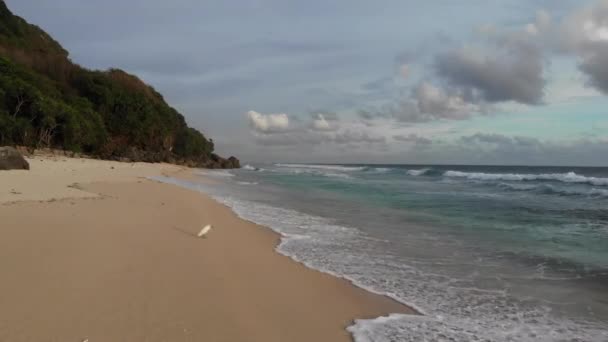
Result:
{"type": "Polygon", "coordinates": [[[608,168],[246,165],[165,182],[282,234],[279,253],[422,313],[358,342],[608,341],[608,168]]]}

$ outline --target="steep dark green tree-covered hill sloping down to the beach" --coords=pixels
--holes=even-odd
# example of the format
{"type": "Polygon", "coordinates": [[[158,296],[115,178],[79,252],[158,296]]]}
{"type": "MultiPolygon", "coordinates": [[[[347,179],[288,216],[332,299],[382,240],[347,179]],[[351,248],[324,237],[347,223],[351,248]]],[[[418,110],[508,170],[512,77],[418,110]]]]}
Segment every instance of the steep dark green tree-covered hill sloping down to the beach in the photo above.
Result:
{"type": "Polygon", "coordinates": [[[0,145],[104,159],[238,167],[162,95],[119,69],[88,70],[0,0],[0,145]]]}

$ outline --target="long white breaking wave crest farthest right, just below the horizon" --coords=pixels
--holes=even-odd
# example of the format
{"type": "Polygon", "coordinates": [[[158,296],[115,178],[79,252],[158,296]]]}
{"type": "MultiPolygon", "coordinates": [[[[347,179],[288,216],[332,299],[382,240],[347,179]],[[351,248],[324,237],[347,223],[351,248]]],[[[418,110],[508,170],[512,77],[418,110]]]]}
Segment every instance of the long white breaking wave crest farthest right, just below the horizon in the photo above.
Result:
{"type": "Polygon", "coordinates": [[[553,181],[562,183],[590,184],[594,186],[608,186],[608,178],[586,177],[582,175],[577,175],[574,172],[520,174],[446,171],[443,173],[443,176],[482,181],[553,181]]]}

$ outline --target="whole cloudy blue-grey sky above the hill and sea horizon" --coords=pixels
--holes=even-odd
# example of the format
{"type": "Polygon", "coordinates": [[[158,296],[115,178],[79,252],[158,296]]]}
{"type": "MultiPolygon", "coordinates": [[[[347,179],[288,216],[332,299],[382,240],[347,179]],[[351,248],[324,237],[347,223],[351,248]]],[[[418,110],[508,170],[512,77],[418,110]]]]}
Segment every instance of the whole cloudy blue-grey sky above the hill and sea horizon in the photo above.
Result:
{"type": "Polygon", "coordinates": [[[249,162],[608,165],[608,0],[7,0],[249,162]]]}

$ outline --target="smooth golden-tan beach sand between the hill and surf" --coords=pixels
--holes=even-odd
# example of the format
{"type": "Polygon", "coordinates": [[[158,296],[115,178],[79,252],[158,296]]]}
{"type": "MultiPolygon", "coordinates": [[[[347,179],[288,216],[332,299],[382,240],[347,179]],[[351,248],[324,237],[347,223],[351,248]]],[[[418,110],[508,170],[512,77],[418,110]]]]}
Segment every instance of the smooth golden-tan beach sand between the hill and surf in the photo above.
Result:
{"type": "Polygon", "coordinates": [[[350,341],[355,318],[412,312],[277,254],[277,234],[205,195],[142,178],[184,168],[30,163],[0,172],[0,341],[350,341]]]}

